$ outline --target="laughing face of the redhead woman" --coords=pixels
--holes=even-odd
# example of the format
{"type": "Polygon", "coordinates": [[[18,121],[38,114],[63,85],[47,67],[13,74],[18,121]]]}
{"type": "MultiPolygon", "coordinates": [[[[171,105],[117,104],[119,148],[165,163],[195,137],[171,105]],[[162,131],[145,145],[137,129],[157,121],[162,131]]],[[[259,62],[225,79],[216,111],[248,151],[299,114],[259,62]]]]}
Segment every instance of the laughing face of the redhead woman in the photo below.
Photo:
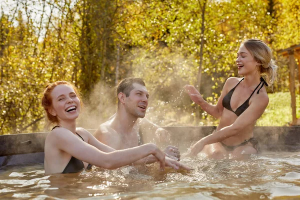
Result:
{"type": "Polygon", "coordinates": [[[51,115],[57,116],[58,121],[78,117],[80,112],[80,100],[70,85],[60,84],[55,86],[50,96],[52,103],[48,110],[51,115]]]}

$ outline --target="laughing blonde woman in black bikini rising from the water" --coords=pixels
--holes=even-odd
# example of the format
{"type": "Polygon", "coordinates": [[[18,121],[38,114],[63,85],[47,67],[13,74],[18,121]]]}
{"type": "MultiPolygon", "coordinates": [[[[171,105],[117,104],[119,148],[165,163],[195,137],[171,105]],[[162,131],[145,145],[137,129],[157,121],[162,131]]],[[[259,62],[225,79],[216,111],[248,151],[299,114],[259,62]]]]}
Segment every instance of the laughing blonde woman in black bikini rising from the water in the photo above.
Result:
{"type": "Polygon", "coordinates": [[[245,40],[237,51],[235,62],[238,74],[243,77],[226,80],[216,105],[206,102],[194,86],[185,85],[191,100],[208,114],[220,118],[211,134],[192,145],[190,155],[201,151],[211,158],[229,155],[239,159],[258,153],[253,128],[268,104],[265,86],[274,82],[277,66],[272,51],[259,39],[245,40]],[[261,74],[266,75],[266,81],[261,74]]]}

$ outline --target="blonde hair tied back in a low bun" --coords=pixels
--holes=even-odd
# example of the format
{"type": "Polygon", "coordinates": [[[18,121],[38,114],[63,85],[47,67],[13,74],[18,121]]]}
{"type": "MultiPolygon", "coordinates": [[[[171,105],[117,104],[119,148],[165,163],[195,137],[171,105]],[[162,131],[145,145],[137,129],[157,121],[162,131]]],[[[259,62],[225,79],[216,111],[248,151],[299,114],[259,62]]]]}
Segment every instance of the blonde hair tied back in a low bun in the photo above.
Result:
{"type": "Polygon", "coordinates": [[[247,39],[242,44],[259,63],[259,72],[266,74],[266,82],[268,84],[274,83],[278,66],[272,59],[272,50],[260,39],[247,39]]]}

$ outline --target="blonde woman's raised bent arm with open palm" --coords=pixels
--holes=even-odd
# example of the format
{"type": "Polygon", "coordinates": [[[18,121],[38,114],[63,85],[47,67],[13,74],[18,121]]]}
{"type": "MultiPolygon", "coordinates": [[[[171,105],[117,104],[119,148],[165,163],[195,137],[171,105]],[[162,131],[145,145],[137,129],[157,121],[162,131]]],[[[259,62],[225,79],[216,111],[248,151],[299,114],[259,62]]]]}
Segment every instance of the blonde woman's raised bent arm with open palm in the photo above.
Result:
{"type": "Polygon", "coordinates": [[[200,105],[200,107],[210,114],[211,116],[215,118],[220,118],[223,112],[223,105],[222,105],[222,100],[226,93],[228,92],[228,85],[232,82],[232,79],[235,77],[228,78],[223,86],[221,95],[215,105],[212,105],[208,103],[206,100],[203,99],[202,95],[200,92],[192,85],[185,85],[185,91],[189,95],[190,99],[200,105]]]}

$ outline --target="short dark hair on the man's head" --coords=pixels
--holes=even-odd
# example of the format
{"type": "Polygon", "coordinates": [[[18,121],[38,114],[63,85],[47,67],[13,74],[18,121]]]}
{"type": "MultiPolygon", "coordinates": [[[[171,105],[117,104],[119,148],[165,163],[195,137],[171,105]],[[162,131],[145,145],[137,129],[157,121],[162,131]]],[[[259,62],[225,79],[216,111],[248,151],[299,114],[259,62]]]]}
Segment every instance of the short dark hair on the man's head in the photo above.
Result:
{"type": "Polygon", "coordinates": [[[134,88],[133,83],[137,83],[137,84],[141,84],[143,86],[146,86],[142,79],[136,78],[136,77],[128,77],[128,78],[122,79],[116,85],[116,96],[118,96],[118,94],[120,92],[122,92],[126,95],[126,97],[128,97],[129,94],[130,94],[130,91],[134,88]]]}

